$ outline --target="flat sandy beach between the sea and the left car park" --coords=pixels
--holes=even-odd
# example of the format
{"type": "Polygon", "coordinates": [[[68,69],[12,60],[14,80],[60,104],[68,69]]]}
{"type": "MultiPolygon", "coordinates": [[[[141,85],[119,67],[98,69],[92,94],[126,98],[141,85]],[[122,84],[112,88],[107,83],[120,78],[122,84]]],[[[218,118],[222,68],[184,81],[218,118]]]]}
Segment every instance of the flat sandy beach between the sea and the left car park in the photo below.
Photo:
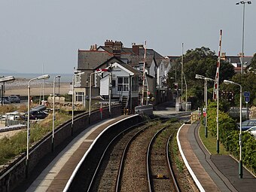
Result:
{"type": "MultiPolygon", "coordinates": [[[[12,83],[5,84],[5,96],[19,95],[28,96],[28,86],[29,79],[18,78],[12,83]]],[[[55,84],[55,93],[61,95],[69,93],[71,90],[71,85],[68,82],[60,82],[55,84]]],[[[40,96],[40,95],[50,95],[53,94],[53,82],[46,81],[31,81],[30,82],[30,95],[40,96]]]]}

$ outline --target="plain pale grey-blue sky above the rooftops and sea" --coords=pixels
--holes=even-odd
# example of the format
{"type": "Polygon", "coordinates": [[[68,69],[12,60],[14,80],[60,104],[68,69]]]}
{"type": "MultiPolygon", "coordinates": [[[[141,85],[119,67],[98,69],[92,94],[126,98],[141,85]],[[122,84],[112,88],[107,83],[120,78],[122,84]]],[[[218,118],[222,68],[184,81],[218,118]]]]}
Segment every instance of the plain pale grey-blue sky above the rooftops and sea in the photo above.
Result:
{"type": "MultiPolygon", "coordinates": [[[[0,75],[72,74],[78,49],[122,41],[163,56],[209,47],[242,52],[242,5],[233,0],[1,0],[0,75]]],[[[245,5],[245,56],[256,53],[256,1],[245,5]]]]}

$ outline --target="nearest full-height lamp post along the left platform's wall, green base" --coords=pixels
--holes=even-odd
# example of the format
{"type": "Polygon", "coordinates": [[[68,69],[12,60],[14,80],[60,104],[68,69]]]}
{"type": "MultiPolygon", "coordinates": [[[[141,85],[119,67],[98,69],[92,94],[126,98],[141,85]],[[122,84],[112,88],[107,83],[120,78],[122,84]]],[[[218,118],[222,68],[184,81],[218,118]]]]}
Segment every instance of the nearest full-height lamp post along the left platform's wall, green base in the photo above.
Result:
{"type": "Polygon", "coordinates": [[[28,118],[27,118],[27,129],[26,129],[26,178],[29,177],[29,136],[30,136],[30,129],[29,129],[29,110],[30,110],[30,82],[35,80],[41,80],[41,79],[48,79],[50,78],[49,75],[41,75],[37,78],[32,78],[29,80],[28,85],[28,118]]]}

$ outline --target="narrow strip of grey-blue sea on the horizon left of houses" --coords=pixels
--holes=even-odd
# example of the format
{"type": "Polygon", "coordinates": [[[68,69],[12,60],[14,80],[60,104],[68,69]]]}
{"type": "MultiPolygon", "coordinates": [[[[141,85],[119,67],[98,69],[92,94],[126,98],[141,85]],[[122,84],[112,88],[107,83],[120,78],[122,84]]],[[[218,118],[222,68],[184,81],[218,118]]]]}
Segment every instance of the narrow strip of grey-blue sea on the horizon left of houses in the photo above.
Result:
{"type": "MultiPolygon", "coordinates": [[[[37,78],[38,76],[41,76],[42,74],[38,74],[38,73],[1,73],[0,77],[7,77],[7,76],[14,76],[14,78],[26,78],[26,79],[32,79],[32,78],[37,78]]],[[[53,78],[56,77],[56,75],[61,75],[61,77],[59,78],[59,82],[62,83],[71,83],[72,82],[72,78],[73,78],[73,74],[47,74],[50,75],[50,78],[44,81],[49,81],[49,82],[53,82],[53,78]]],[[[58,81],[58,78],[56,78],[56,82],[58,81]]]]}

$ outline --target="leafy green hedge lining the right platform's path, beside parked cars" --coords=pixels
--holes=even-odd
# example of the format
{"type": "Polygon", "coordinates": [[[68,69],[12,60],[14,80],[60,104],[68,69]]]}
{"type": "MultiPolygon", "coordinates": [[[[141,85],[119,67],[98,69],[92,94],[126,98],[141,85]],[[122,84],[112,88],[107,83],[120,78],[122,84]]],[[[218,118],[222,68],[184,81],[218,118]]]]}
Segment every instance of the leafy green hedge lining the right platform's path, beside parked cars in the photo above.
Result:
{"type": "MultiPolygon", "coordinates": [[[[216,104],[212,102],[208,106],[207,126],[214,136],[217,133],[216,115],[216,104]]],[[[219,108],[218,125],[219,139],[224,148],[239,159],[239,130],[236,121],[219,108]]],[[[242,133],[242,161],[248,169],[256,173],[256,139],[247,132],[242,133]]]]}

